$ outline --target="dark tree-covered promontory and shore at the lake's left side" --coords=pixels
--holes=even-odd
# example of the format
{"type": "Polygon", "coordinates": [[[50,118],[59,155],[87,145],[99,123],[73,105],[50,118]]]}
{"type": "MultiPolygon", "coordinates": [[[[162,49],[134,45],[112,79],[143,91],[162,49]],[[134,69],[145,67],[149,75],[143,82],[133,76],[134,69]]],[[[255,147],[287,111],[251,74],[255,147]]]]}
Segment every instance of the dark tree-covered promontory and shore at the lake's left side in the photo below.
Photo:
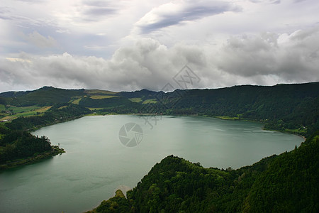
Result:
{"type": "Polygon", "coordinates": [[[47,137],[38,138],[38,136],[35,137],[27,131],[76,119],[90,113],[89,109],[76,104],[62,105],[58,104],[52,107],[43,116],[20,117],[14,119],[11,123],[7,123],[6,126],[0,126],[0,132],[4,134],[0,139],[0,163],[52,151],[50,140],[47,137]]]}

